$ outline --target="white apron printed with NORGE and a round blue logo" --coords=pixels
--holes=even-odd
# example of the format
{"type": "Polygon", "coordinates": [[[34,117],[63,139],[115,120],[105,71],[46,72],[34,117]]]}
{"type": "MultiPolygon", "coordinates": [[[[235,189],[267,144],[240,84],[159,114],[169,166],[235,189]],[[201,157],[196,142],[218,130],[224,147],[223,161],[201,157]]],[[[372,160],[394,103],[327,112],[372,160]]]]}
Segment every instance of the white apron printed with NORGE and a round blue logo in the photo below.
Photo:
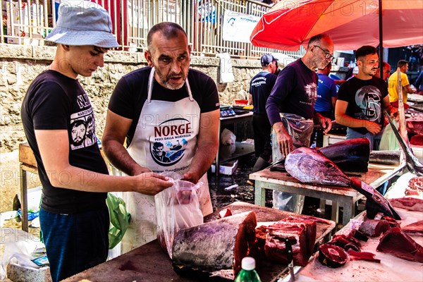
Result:
{"type": "MultiPolygon", "coordinates": [[[[152,100],[154,68],[149,75],[148,96],[142,107],[130,156],[140,166],[156,173],[173,171],[183,175],[190,167],[200,130],[200,106],[192,99],[190,84],[185,80],[189,97],[178,102],[152,100]]],[[[204,216],[213,212],[207,173],[200,179],[200,207],[204,216]]],[[[123,192],[126,209],[131,214],[130,226],[122,240],[122,253],[157,238],[154,196],[123,192]]]]}

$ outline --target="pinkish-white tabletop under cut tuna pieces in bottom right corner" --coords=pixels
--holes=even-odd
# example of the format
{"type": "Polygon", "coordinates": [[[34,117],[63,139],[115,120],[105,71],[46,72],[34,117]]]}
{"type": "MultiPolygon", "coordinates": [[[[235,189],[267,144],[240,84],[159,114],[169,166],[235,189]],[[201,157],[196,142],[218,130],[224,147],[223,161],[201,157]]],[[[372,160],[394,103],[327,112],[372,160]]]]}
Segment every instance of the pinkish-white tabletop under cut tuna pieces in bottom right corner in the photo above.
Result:
{"type": "MultiPolygon", "coordinates": [[[[400,228],[403,230],[410,223],[422,221],[423,219],[422,212],[408,211],[400,208],[396,208],[396,210],[401,216],[402,220],[398,222],[400,223],[400,228]]],[[[338,231],[336,235],[347,235],[353,228],[357,228],[364,220],[365,214],[366,212],[364,211],[356,216],[348,225],[338,231]]],[[[420,231],[422,231],[421,225],[420,231]]],[[[338,268],[330,268],[319,262],[319,252],[316,252],[309,264],[295,274],[295,281],[422,281],[422,262],[412,262],[396,257],[391,253],[378,251],[380,250],[378,245],[383,237],[384,234],[381,234],[377,237],[370,237],[367,242],[360,241],[361,252],[374,254],[375,261],[353,260],[350,257],[345,265],[338,268]]],[[[410,235],[410,238],[420,246],[423,245],[423,236],[421,233],[420,235],[410,235]]],[[[405,244],[399,246],[391,244],[389,248],[394,250],[396,247],[405,248],[405,244]]],[[[416,255],[420,259],[422,258],[422,252],[420,250],[420,252],[417,252],[419,255],[416,255]]]]}

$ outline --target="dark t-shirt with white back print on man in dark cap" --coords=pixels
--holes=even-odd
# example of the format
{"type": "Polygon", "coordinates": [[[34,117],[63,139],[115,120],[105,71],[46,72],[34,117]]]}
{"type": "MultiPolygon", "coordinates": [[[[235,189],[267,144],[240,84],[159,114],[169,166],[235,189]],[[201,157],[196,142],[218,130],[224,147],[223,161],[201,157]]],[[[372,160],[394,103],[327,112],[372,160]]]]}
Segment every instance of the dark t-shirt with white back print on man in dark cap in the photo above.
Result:
{"type": "Polygon", "coordinates": [[[261,71],[250,81],[250,94],[252,95],[252,112],[267,116],[266,102],[275,85],[276,75],[268,71],[261,71]]]}

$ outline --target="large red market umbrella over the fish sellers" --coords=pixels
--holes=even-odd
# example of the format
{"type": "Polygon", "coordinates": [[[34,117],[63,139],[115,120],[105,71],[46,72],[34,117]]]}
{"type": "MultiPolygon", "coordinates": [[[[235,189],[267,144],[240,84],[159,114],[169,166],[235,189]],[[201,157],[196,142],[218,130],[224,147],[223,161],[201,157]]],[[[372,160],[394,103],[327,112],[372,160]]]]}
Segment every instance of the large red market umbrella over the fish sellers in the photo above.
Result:
{"type": "Polygon", "coordinates": [[[336,50],[423,44],[423,0],[280,1],[262,16],[250,40],[257,47],[296,51],[320,33],[332,37],[336,50]]]}

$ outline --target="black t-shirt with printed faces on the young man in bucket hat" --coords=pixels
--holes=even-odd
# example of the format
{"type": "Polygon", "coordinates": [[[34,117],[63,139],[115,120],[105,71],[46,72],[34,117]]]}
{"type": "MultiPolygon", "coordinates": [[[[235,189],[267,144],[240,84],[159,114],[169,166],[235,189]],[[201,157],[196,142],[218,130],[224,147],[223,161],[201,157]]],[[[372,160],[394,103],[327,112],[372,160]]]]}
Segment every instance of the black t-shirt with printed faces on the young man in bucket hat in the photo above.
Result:
{"type": "MultiPolygon", "coordinates": [[[[71,166],[109,174],[97,145],[90,99],[78,80],[56,71],[39,74],[25,94],[21,116],[27,141],[37,160],[43,188],[41,207],[60,214],[86,212],[102,207],[107,193],[55,188],[51,185],[35,139],[35,130],[68,130],[71,166]]],[[[54,147],[55,142],[51,140],[51,147],[54,147]]],[[[63,181],[69,181],[71,177],[66,171],[49,173],[59,173],[63,181]]],[[[95,181],[94,175],[92,181],[95,181]]]]}

